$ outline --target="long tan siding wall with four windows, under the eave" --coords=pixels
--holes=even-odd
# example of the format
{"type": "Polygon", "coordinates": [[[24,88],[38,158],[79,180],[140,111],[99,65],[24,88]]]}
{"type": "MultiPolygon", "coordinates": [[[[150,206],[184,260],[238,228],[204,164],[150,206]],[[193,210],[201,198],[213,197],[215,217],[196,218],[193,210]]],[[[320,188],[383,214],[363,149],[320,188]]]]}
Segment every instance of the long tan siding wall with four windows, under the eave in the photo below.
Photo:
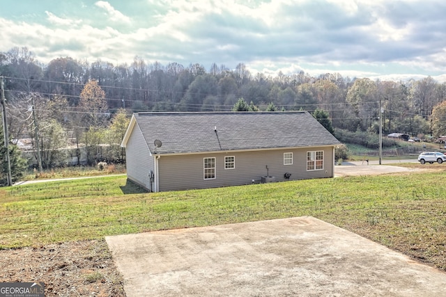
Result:
{"type": "Polygon", "coordinates": [[[333,147],[299,148],[292,150],[259,150],[252,152],[222,152],[213,154],[178,154],[161,156],[158,160],[159,191],[215,188],[261,182],[261,177],[286,180],[333,177],[333,147]],[[323,151],[323,170],[307,171],[307,152],[323,151]],[[293,153],[293,164],[284,165],[284,153],[293,153]],[[224,169],[224,157],[235,156],[235,168],[224,169]],[[203,158],[215,157],[215,179],[203,179],[203,158]],[[285,179],[286,172],[291,173],[285,179]]]}

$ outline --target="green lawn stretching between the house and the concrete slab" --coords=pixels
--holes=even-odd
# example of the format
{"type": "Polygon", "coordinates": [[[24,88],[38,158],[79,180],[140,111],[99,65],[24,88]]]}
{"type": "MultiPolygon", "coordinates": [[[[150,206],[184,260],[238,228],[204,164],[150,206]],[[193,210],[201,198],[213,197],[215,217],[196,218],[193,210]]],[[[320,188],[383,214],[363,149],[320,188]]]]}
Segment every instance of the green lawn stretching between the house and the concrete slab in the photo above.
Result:
{"type": "Polygon", "coordinates": [[[144,193],[125,176],[6,187],[0,248],[314,216],[446,270],[446,171],[431,168],[166,193],[144,193]]]}

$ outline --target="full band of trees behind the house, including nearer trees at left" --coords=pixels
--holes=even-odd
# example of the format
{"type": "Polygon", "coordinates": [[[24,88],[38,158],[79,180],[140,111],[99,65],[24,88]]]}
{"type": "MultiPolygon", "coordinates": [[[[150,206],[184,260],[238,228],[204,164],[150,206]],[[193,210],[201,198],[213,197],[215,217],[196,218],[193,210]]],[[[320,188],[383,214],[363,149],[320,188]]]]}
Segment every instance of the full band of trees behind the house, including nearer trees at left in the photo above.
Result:
{"type": "Polygon", "coordinates": [[[127,116],[142,111],[231,111],[238,109],[240,99],[251,110],[322,110],[334,129],[377,133],[382,115],[384,134],[446,134],[446,127],[438,125],[445,122],[444,112],[433,112],[446,98],[446,83],[431,77],[372,81],[337,73],[312,77],[302,71],[272,77],[252,74],[243,63],[232,70],[213,63],[206,70],[199,63],[162,65],[138,56],[130,65],[70,57],[42,64],[26,47],[0,52],[0,76],[5,81],[11,135],[35,138],[32,105],[38,137],[45,145],[57,135],[76,145],[97,143],[97,132],[109,129],[120,109],[127,116]],[[91,90],[93,95],[86,95],[89,88],[103,93],[91,90]]]}

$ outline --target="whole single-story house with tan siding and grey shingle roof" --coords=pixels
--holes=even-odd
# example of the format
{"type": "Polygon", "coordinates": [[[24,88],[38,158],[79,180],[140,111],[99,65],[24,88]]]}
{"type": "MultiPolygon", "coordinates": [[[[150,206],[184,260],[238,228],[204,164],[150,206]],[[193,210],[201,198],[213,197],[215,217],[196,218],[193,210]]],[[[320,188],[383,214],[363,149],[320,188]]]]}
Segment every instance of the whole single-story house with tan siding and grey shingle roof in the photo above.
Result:
{"type": "Polygon", "coordinates": [[[306,111],[134,113],[127,176],[148,191],[334,177],[330,132],[306,111]]]}

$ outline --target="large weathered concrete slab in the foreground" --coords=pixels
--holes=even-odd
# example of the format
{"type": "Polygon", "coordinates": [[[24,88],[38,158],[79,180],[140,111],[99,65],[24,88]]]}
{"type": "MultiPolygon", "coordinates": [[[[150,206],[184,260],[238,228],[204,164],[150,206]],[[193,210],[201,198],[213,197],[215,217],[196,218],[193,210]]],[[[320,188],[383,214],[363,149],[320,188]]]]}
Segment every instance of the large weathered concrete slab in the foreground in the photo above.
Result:
{"type": "Polygon", "coordinates": [[[446,295],[446,273],[308,216],[106,240],[128,297],[446,295]]]}

